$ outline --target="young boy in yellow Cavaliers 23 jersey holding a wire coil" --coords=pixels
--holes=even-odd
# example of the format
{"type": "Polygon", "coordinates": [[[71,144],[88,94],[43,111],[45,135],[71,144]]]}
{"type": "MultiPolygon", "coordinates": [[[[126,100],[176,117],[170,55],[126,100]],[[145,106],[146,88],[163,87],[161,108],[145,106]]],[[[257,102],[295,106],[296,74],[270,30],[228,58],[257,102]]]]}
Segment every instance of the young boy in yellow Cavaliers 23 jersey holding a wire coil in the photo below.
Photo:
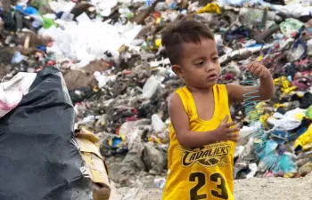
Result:
{"type": "MultiPolygon", "coordinates": [[[[242,102],[245,91],[241,85],[217,84],[217,44],[197,20],[177,20],[164,30],[162,44],[172,70],[185,81],[168,100],[170,146],[163,200],[233,200],[239,129],[229,107],[242,102]]],[[[247,68],[260,79],[259,100],[272,98],[275,87],[267,68],[259,62],[247,68]]]]}

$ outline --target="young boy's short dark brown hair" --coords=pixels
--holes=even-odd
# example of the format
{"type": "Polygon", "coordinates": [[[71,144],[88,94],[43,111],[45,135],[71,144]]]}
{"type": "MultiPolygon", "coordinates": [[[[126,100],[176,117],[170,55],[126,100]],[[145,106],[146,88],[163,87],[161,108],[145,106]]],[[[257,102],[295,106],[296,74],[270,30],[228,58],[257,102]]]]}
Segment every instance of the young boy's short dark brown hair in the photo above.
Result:
{"type": "Polygon", "coordinates": [[[171,65],[179,64],[182,44],[200,44],[201,37],[215,39],[214,34],[206,25],[189,17],[178,18],[165,28],[161,34],[161,43],[166,48],[171,65]]]}

